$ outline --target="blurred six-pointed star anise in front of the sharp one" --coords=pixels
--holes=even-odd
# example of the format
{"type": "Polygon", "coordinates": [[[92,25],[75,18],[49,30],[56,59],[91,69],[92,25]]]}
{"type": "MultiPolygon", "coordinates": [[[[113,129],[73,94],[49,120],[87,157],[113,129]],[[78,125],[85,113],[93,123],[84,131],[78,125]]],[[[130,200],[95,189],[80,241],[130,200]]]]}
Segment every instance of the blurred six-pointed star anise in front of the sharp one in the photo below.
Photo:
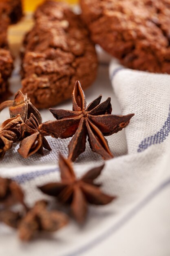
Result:
{"type": "Polygon", "coordinates": [[[116,197],[104,194],[94,180],[101,174],[104,165],[93,168],[77,179],[71,166],[71,161],[60,155],[59,166],[61,182],[52,182],[39,189],[47,195],[57,198],[62,204],[70,204],[73,215],[79,223],[84,222],[89,204],[104,205],[116,197]]]}

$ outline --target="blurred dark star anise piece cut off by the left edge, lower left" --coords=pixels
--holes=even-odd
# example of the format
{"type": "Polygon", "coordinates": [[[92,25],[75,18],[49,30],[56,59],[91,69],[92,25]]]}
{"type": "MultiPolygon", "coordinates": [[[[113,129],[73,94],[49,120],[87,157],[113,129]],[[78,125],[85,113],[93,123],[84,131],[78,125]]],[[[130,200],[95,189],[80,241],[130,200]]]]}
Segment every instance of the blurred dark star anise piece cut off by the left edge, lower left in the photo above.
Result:
{"type": "Polygon", "coordinates": [[[13,204],[24,204],[24,193],[15,181],[0,177],[0,205],[9,207],[13,204]]]}

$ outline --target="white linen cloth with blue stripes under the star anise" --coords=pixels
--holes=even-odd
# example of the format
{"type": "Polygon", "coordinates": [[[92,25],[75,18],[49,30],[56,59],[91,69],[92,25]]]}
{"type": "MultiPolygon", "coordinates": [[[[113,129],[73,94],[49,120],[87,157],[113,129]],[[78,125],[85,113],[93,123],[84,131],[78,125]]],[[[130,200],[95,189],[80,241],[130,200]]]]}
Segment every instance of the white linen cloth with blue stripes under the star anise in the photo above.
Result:
{"type": "MultiPolygon", "coordinates": [[[[135,113],[125,130],[106,138],[115,158],[105,162],[99,181],[117,200],[89,207],[83,227],[70,220],[53,235],[42,234],[27,244],[18,240],[13,229],[0,224],[0,255],[170,255],[170,75],[129,70],[115,60],[109,73],[110,80],[108,65],[100,65],[97,81],[85,94],[88,103],[99,94],[103,100],[111,97],[114,114],[135,113]]],[[[18,83],[17,76],[12,79],[18,83]]],[[[71,109],[71,101],[57,108],[71,109]]],[[[43,121],[53,119],[48,110],[41,114],[43,121]]],[[[7,117],[3,110],[0,122],[7,117]]],[[[50,199],[36,186],[60,179],[58,153],[67,156],[69,140],[48,138],[53,151],[29,159],[17,153],[19,145],[13,147],[0,161],[0,175],[20,182],[30,205],[41,198],[50,199]]],[[[74,168],[81,176],[102,162],[87,143],[74,168]]]]}

